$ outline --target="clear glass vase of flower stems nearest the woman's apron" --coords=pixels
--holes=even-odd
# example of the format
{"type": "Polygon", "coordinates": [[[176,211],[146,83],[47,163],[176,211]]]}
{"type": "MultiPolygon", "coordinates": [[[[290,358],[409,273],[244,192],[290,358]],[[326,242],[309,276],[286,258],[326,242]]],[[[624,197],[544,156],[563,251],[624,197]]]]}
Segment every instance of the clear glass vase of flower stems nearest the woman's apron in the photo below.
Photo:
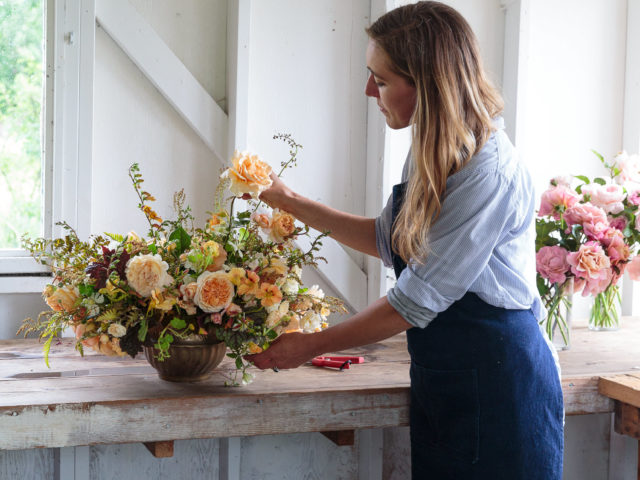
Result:
{"type": "Polygon", "coordinates": [[[573,297],[573,277],[563,284],[555,284],[542,300],[547,309],[547,317],[542,325],[556,350],[571,347],[571,307],[573,297]]]}

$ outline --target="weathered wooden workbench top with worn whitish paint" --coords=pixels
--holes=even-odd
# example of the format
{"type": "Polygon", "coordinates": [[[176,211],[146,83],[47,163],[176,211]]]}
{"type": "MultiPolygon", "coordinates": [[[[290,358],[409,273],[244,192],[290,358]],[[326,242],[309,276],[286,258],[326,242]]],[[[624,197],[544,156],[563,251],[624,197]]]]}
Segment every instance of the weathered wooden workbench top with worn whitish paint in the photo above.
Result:
{"type": "MultiPolygon", "coordinates": [[[[568,414],[613,411],[598,393],[603,375],[640,371],[640,318],[617,332],[573,331],[561,352],[568,414]]],[[[225,387],[227,359],[199,383],[160,380],[144,358],[80,357],[71,339],[52,347],[0,341],[0,449],[157,442],[408,424],[409,357],[404,335],[341,352],[365,363],[343,372],[305,365],[257,371],[225,387]]]]}

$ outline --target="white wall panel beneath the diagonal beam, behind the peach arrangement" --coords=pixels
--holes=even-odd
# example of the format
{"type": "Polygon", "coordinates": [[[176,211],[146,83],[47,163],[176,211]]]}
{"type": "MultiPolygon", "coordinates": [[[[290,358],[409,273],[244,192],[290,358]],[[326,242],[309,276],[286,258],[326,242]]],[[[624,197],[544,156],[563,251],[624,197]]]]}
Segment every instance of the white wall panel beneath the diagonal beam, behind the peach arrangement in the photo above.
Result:
{"type": "Polygon", "coordinates": [[[95,82],[92,231],[146,233],[127,177],[134,162],[163,218],[171,218],[173,193],[184,188],[196,219],[204,222],[220,162],[101,28],[95,82]]]}

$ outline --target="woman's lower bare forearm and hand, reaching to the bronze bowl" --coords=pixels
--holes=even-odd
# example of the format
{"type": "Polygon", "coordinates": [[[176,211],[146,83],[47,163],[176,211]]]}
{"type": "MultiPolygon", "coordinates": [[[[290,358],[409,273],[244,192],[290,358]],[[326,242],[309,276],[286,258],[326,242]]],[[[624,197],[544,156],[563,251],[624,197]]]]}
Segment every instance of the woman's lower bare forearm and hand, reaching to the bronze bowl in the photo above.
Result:
{"type": "Polygon", "coordinates": [[[411,326],[382,297],[349,320],[318,333],[281,335],[267,350],[245,359],[262,369],[295,368],[323,353],[379,342],[411,326]]]}

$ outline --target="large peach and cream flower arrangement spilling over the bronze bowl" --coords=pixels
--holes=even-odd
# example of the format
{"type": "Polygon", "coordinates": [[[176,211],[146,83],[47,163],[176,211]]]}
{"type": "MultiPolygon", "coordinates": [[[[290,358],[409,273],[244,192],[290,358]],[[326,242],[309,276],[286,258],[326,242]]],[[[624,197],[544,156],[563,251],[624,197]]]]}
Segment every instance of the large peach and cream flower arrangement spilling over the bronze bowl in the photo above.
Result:
{"type": "MultiPolygon", "coordinates": [[[[281,175],[295,165],[301,145],[289,135],[274,138],[290,147],[281,175]]],[[[20,331],[38,331],[46,339],[47,365],[52,340],[68,327],[80,353],[89,347],[135,357],[144,345],[155,347],[158,360],[170,355],[176,338],[215,337],[235,360],[233,383],[239,373],[249,382],[243,355],[268,348],[283,332],[326,328],[331,312],[346,311],[339,299],[301,281],[302,266],[322,259],[316,255],[328,233],[301,251],[293,240],[310,236],[309,227],[287,212],[260,208],[257,198],[271,185],[271,171],[257,155],[235,152],[221,175],[215,211],[195,228],[183,191],[174,195],[175,220],[153,210],[155,198],[143,189],[133,164],[129,178],[149,223],[147,238],[105,233],[83,241],[66,223],[64,238],[23,238],[25,248],[51,267],[54,280],[43,292],[51,310],[26,319],[20,331]],[[225,199],[227,188],[233,196],[225,199]],[[235,213],[236,198],[243,196],[251,196],[250,208],[235,213]]]]}

